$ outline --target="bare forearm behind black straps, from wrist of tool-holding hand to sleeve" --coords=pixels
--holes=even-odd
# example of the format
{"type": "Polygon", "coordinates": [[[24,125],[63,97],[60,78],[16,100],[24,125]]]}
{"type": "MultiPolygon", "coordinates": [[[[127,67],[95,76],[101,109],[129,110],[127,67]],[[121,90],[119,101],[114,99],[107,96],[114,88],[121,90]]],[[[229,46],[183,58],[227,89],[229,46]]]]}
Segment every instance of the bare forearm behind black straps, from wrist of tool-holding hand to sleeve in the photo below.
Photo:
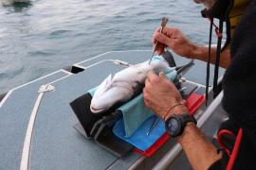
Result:
{"type": "MultiPolygon", "coordinates": [[[[208,61],[208,52],[209,48],[208,46],[204,45],[195,45],[194,50],[192,51],[191,58],[192,59],[199,59],[203,61],[208,61]]],[[[216,47],[211,47],[210,49],[210,63],[214,64],[216,59],[216,47]]],[[[227,68],[230,63],[230,55],[229,55],[229,49],[224,50],[221,53],[220,57],[220,66],[223,68],[227,68]]]]}

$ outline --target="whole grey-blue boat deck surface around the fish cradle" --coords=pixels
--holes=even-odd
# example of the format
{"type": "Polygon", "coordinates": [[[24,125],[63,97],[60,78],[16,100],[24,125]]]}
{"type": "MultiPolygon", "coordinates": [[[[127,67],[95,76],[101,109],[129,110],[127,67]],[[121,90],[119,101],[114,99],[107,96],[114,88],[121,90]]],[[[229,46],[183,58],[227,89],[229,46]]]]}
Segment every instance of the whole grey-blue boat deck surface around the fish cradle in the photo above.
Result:
{"type": "MultiPolygon", "coordinates": [[[[104,59],[137,63],[149,59],[150,55],[151,51],[111,52],[79,65],[88,67],[104,59]]],[[[178,65],[189,61],[175,59],[178,65]]],[[[200,61],[195,63],[200,64],[200,61]]],[[[140,156],[136,152],[118,159],[93,141],[84,139],[73,128],[78,120],[69,107],[72,100],[99,85],[110,73],[114,74],[123,68],[105,60],[52,84],[55,91],[44,94],[37,112],[30,145],[30,170],[126,169],[137,161],[140,156]]],[[[191,72],[186,75],[189,79],[204,84],[205,64],[204,67],[193,67],[191,72]]],[[[27,123],[38,96],[37,91],[40,85],[63,76],[66,74],[59,72],[13,91],[0,108],[0,169],[19,169],[27,123]]],[[[166,149],[159,152],[162,155],[166,149]]],[[[153,159],[156,162],[160,158],[153,159]]]]}

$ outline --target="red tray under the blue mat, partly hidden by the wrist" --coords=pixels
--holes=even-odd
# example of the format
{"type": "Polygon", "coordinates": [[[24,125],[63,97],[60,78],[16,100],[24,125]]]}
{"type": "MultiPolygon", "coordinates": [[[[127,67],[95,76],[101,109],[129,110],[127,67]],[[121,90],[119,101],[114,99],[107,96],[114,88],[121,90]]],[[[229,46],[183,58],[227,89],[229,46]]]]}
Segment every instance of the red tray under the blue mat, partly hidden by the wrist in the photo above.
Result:
{"type": "MultiPolygon", "coordinates": [[[[203,94],[198,94],[198,93],[192,93],[190,96],[188,96],[186,100],[186,107],[189,109],[189,112],[193,114],[195,110],[198,109],[199,106],[205,101],[205,95],[203,94]]],[[[135,151],[145,155],[145,156],[152,156],[158,148],[164,144],[171,136],[165,132],[160,138],[158,138],[154,144],[152,144],[149,148],[147,148],[145,151],[138,149],[135,147],[135,151]]]]}

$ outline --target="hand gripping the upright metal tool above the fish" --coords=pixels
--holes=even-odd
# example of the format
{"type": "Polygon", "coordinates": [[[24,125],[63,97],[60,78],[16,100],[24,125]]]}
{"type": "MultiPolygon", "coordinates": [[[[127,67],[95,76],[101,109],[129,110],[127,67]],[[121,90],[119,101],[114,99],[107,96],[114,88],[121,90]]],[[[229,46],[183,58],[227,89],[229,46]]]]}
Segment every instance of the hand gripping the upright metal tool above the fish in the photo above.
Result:
{"type": "Polygon", "coordinates": [[[199,46],[190,41],[179,29],[175,27],[164,27],[160,33],[160,27],[155,30],[152,43],[157,43],[155,51],[161,55],[166,46],[169,46],[174,52],[186,58],[195,58],[199,46]]]}

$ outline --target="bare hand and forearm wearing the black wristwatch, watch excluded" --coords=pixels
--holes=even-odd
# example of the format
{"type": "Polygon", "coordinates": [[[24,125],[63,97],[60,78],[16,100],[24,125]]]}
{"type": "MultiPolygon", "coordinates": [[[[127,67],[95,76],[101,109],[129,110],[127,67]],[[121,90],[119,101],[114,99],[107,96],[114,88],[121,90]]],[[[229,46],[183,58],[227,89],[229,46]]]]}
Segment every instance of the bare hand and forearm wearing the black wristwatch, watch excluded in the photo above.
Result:
{"type": "MultiPolygon", "coordinates": [[[[165,117],[166,110],[170,107],[183,102],[174,83],[168,80],[163,73],[159,76],[153,72],[149,73],[143,95],[146,106],[161,117],[165,117]]],[[[169,115],[184,112],[188,112],[187,108],[179,105],[174,107],[169,115]]],[[[222,157],[221,154],[217,154],[217,148],[193,123],[188,123],[184,132],[176,140],[182,145],[193,169],[208,169],[214,161],[222,157]]]]}

